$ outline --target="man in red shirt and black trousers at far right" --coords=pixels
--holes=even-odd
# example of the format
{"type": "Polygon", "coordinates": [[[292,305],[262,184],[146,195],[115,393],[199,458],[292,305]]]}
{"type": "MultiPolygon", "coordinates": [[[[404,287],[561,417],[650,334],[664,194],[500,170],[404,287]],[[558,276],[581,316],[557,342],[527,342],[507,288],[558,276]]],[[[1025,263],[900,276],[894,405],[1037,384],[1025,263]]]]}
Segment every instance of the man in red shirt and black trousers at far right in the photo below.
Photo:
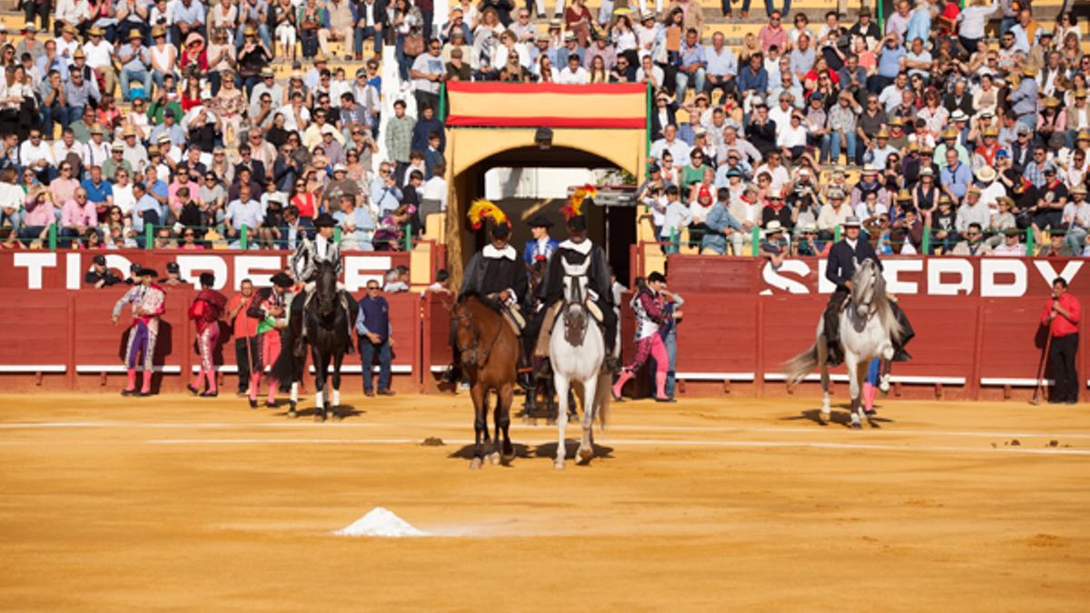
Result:
{"type": "Polygon", "coordinates": [[[1079,401],[1079,377],[1075,372],[1075,352],[1079,346],[1079,317],[1082,306],[1067,291],[1067,280],[1052,281],[1052,296],[1041,312],[1041,324],[1049,326],[1049,371],[1055,381],[1049,404],[1075,405],[1079,401]]]}

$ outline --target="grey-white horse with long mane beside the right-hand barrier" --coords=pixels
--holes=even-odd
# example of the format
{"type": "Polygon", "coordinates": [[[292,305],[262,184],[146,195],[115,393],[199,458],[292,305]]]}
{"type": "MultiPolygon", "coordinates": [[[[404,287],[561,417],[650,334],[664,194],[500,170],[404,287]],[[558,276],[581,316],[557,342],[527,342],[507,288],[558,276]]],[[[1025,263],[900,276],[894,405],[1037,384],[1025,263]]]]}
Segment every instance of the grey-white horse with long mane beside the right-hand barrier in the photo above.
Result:
{"type": "MultiPolygon", "coordinates": [[[[894,354],[894,340],[899,340],[903,328],[885,292],[885,279],[873,260],[865,260],[856,266],[851,277],[851,295],[840,312],[840,347],[844,349],[844,364],[848,369],[851,389],[851,426],[862,428],[863,417],[860,393],[871,360],[882,358],[888,363],[894,354]]],[[[824,320],[818,320],[818,340],[802,353],[790,359],[785,365],[787,384],[798,384],[814,368],[821,369],[823,392],[821,417],[828,420],[828,344],[825,338],[824,320]]],[[[889,374],[882,375],[882,390],[889,388],[889,374]]],[[[873,422],[870,422],[874,425],[873,422]]]]}

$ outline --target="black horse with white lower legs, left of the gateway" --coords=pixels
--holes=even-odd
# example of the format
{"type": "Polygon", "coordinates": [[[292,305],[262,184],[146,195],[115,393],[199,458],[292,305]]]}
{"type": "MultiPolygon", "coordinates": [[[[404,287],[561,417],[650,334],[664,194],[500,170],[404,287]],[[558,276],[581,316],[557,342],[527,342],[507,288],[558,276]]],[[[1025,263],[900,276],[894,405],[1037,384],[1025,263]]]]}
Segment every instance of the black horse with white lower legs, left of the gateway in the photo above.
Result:
{"type": "MultiPolygon", "coordinates": [[[[346,312],[337,292],[337,269],[329,262],[317,264],[317,280],[314,287],[314,298],[306,304],[306,292],[300,292],[291,303],[291,317],[284,334],[284,350],[274,366],[274,375],[278,381],[292,382],[291,406],[288,417],[296,417],[296,395],[294,382],[303,376],[305,345],[311,347],[314,363],[315,421],[334,419],[340,416],[340,370],[344,353],[352,350],[352,336],[349,324],[354,325],[360,305],[354,300],[348,301],[346,312]],[[306,335],[303,335],[303,323],[306,323],[306,335]],[[329,363],[332,362],[332,401],[325,394],[326,377],[329,375],[329,363]]],[[[363,368],[367,368],[364,364],[363,368]]]]}

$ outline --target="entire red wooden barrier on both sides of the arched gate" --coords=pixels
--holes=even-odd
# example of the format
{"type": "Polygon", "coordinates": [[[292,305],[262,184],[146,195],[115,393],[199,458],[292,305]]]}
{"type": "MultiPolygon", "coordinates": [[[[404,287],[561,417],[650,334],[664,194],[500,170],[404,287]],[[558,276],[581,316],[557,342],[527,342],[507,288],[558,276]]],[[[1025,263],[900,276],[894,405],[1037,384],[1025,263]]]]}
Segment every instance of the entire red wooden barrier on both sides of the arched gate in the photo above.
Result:
{"type": "MultiPolygon", "coordinates": [[[[190,275],[199,272],[196,264],[205,262],[226,268],[228,276],[221,280],[228,285],[241,278],[240,273],[259,283],[257,268],[267,263],[279,265],[282,260],[278,259],[283,257],[282,253],[219,251],[124,255],[162,272],[170,260],[185,261],[190,275]],[[182,260],[192,255],[211,259],[182,260]]],[[[120,388],[125,328],[111,325],[109,317],[126,286],[83,288],[89,257],[88,253],[0,253],[0,288],[16,323],[9,326],[7,342],[0,344],[0,376],[9,388],[120,388]],[[64,289],[73,279],[80,289],[64,289]]],[[[375,257],[385,260],[355,261],[354,278],[408,263],[405,254],[375,257]],[[374,271],[366,266],[374,266],[374,271]]],[[[117,260],[111,262],[118,265],[117,260]]],[[[1038,317],[1051,279],[1063,273],[1075,296],[1090,299],[1090,284],[1080,277],[1081,260],[904,257],[887,259],[884,264],[891,290],[899,297],[917,332],[909,346],[915,359],[898,364],[894,373],[900,378],[895,393],[905,396],[1002,398],[1030,394],[1044,341],[1038,317]]],[[[778,376],[782,363],[813,341],[827,300],[824,292],[829,289],[820,281],[822,272],[822,263],[812,259],[792,260],[773,271],[760,259],[671,257],[670,289],[686,300],[676,369],[683,382],[682,394],[787,394],[778,376]]],[[[194,332],[185,321],[193,295],[190,286],[168,289],[155,360],[160,371],[157,385],[166,390],[182,389],[197,362],[194,332]]],[[[437,375],[450,361],[451,298],[401,293],[387,299],[396,341],[395,387],[436,390],[437,375]]],[[[621,309],[622,350],[630,359],[633,322],[627,302],[628,297],[621,309]]],[[[1086,335],[1081,344],[1078,365],[1085,381],[1083,356],[1090,349],[1086,335]]],[[[233,339],[225,339],[218,361],[228,386],[234,378],[233,345],[233,339]]],[[[358,356],[350,357],[347,364],[355,373],[361,368],[358,356]]],[[[838,372],[843,376],[843,369],[838,372]]],[[[806,383],[797,393],[816,393],[816,384],[806,383]]]]}

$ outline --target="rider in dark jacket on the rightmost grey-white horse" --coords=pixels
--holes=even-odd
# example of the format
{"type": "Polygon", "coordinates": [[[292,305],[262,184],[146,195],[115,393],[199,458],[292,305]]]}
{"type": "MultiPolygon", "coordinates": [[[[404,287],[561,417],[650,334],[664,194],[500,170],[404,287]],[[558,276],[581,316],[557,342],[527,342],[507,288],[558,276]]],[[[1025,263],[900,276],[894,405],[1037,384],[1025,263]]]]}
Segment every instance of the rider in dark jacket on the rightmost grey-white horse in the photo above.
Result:
{"type": "MultiPolygon", "coordinates": [[[[861,224],[855,216],[848,217],[844,221],[844,239],[833,245],[828,252],[828,266],[825,268],[825,278],[836,285],[833,296],[828,299],[824,321],[825,341],[828,345],[828,363],[837,365],[844,361],[844,350],[840,347],[840,309],[845,300],[851,295],[851,276],[856,274],[856,266],[865,260],[873,260],[879,268],[882,261],[871,247],[867,235],[860,236],[861,224]]],[[[908,323],[908,317],[896,301],[891,300],[891,306],[897,316],[897,322],[904,328],[901,338],[894,341],[894,361],[907,361],[911,356],[905,351],[905,346],[916,336],[912,326],[908,323]]]]}

